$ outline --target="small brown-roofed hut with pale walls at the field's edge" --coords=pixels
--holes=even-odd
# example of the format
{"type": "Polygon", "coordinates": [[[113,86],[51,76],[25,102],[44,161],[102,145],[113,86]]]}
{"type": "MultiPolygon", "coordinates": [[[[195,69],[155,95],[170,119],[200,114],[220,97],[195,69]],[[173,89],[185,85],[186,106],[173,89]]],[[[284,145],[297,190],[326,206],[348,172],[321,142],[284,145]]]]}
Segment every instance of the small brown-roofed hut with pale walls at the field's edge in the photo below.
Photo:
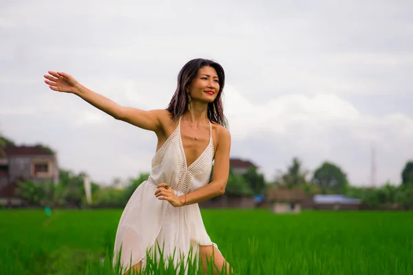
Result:
{"type": "Polygon", "coordinates": [[[298,213],[301,204],[307,198],[306,192],[301,189],[268,188],[266,199],[271,212],[298,213]]]}

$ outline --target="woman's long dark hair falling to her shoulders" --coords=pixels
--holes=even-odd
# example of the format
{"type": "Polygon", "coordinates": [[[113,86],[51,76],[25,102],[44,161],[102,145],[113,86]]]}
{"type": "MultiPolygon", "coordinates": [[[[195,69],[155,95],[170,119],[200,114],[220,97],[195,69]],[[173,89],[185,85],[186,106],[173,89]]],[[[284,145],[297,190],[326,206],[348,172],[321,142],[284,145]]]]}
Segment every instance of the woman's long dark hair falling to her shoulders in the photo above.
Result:
{"type": "Polygon", "coordinates": [[[189,100],[187,98],[187,87],[195,76],[197,76],[198,71],[205,66],[210,66],[215,69],[218,74],[218,83],[220,83],[220,91],[218,91],[217,97],[213,102],[208,104],[208,119],[211,122],[221,124],[228,128],[228,121],[224,116],[224,107],[222,104],[222,89],[224,89],[225,84],[224,69],[220,64],[208,59],[196,58],[182,67],[178,74],[178,85],[176,86],[175,94],[173,94],[171,102],[169,102],[167,111],[171,113],[171,118],[173,120],[177,120],[188,111],[189,100]],[[216,111],[214,111],[214,106],[216,111]]]}

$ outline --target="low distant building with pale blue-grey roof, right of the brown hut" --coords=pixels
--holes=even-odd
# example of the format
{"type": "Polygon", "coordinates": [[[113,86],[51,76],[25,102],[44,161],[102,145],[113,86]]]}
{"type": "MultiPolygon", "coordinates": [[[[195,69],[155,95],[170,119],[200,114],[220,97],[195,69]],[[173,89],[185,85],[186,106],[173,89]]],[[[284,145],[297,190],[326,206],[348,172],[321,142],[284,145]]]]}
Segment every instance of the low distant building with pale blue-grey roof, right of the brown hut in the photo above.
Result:
{"type": "Polygon", "coordinates": [[[359,210],[360,199],[343,195],[314,195],[313,208],[319,210],[359,210]]]}

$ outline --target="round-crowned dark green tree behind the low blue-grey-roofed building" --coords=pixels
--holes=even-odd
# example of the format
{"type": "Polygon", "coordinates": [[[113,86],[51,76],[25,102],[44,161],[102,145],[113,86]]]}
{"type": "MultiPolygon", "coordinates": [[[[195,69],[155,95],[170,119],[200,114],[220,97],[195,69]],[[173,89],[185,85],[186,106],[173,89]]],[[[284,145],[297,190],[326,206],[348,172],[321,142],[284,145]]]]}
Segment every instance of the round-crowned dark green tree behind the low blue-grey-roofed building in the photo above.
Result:
{"type": "Polygon", "coordinates": [[[342,194],[346,188],[347,176],[339,166],[324,162],[315,170],[313,183],[320,186],[323,194],[327,194],[328,191],[342,194]]]}

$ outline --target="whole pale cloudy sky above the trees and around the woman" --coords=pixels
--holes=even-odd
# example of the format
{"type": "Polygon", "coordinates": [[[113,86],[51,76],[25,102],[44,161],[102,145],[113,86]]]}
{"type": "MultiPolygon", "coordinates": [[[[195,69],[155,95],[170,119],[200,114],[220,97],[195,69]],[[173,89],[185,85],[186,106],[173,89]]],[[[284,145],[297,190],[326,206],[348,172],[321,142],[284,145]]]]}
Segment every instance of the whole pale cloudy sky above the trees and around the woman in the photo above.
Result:
{"type": "Polygon", "coordinates": [[[413,159],[413,2],[0,2],[0,131],[56,149],[63,168],[109,183],[150,169],[156,136],[43,83],[72,74],[119,104],[165,108],[180,68],[226,71],[231,157],[268,179],[293,157],[351,184],[399,184],[413,159]]]}

